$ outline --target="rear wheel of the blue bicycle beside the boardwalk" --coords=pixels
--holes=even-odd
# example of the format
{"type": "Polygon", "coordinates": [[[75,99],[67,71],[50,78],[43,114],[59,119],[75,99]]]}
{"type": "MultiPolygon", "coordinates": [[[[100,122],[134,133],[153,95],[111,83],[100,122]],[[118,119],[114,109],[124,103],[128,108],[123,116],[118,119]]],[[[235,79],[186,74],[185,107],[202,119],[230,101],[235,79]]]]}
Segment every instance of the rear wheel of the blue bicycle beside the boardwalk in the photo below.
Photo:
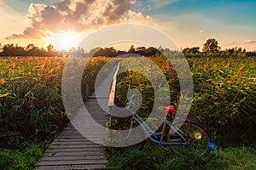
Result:
{"type": "Polygon", "coordinates": [[[174,122],[166,134],[166,140],[176,143],[170,144],[169,148],[179,156],[207,156],[211,151],[208,148],[211,139],[207,128],[197,122],[174,122]]]}

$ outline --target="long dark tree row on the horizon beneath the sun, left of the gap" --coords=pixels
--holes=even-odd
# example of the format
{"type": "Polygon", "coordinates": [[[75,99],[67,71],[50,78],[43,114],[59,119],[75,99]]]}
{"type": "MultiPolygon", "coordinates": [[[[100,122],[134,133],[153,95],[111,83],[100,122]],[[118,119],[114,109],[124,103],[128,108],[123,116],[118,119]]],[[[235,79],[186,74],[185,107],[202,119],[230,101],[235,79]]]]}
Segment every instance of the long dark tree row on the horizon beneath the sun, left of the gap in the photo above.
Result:
{"type": "Polygon", "coordinates": [[[69,50],[55,50],[53,45],[47,46],[47,48],[38,48],[34,44],[28,44],[26,47],[20,47],[18,44],[5,44],[0,43],[0,56],[82,56],[82,57],[117,57],[122,54],[139,54],[144,56],[153,56],[160,53],[157,48],[138,47],[133,45],[128,51],[117,50],[111,48],[93,48],[89,52],[85,52],[84,48],[70,48],[69,50]]]}

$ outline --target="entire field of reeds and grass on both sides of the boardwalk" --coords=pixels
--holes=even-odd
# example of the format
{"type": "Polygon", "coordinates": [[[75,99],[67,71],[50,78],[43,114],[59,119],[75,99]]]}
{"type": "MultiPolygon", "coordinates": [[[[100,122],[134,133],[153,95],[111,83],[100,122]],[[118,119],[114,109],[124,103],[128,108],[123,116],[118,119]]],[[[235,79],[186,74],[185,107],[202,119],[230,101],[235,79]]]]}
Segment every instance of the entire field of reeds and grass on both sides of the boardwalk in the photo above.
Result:
{"type": "MultiPolygon", "coordinates": [[[[150,58],[166,76],[172,105],[180,99],[179,81],[170,62],[150,58]]],[[[110,59],[93,58],[84,69],[82,85],[93,87],[97,71],[110,59]],[[88,81],[90,80],[90,81],[88,81]]],[[[49,142],[67,124],[61,100],[64,58],[0,59],[0,167],[32,169],[49,142]]],[[[122,65],[139,66],[136,60],[122,65]]],[[[81,62],[83,64],[83,62],[81,62]]],[[[189,59],[194,80],[191,115],[212,132],[218,149],[205,159],[166,156],[154,144],[144,150],[110,150],[113,169],[255,169],[256,63],[254,59],[189,59]]],[[[143,67],[142,67],[143,68],[143,67]]],[[[141,113],[149,113],[154,92],[146,77],[126,71],[118,77],[116,102],[125,105],[125,92],[143,93],[141,113]],[[131,81],[132,80],[132,81],[131,81]]],[[[93,90],[93,89],[91,89],[93,90]]],[[[84,92],[83,92],[84,93],[84,92]]],[[[86,100],[86,99],[85,99],[86,100]]]]}

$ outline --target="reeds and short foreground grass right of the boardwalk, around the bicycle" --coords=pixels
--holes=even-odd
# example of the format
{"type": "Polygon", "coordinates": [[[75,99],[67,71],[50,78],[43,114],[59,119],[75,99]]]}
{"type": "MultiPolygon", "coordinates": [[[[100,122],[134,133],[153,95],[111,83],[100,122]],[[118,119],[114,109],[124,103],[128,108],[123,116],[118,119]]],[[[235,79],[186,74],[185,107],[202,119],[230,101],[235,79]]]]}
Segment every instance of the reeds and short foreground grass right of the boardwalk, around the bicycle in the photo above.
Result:
{"type": "MultiPolygon", "coordinates": [[[[172,99],[177,108],[181,98],[177,74],[163,57],[152,57],[166,76],[172,99]]],[[[110,150],[109,168],[117,169],[255,169],[256,141],[256,62],[255,59],[192,58],[188,59],[194,81],[194,99],[189,116],[201,116],[201,123],[211,132],[218,149],[207,158],[166,156],[156,144],[143,150],[110,150]],[[123,152],[125,152],[123,154],[123,152]]],[[[118,77],[116,103],[125,106],[127,91],[137,88],[142,94],[139,114],[148,117],[154,102],[153,85],[138,68],[152,68],[151,63],[126,59],[121,67],[131,68],[118,77]],[[132,70],[136,67],[137,70],[132,70]],[[147,84],[147,85],[145,85],[147,84]]],[[[158,77],[156,77],[158,79],[158,77]]],[[[122,127],[117,119],[115,126],[122,127]]]]}

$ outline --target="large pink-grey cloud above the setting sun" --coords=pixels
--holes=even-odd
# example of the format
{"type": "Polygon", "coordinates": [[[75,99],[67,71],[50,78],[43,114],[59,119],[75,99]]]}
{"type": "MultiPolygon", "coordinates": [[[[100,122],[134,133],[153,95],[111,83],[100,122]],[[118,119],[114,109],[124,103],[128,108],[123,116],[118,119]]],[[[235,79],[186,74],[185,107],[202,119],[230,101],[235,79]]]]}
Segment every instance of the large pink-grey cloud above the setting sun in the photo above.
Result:
{"type": "Polygon", "coordinates": [[[81,32],[124,22],[150,22],[150,16],[131,10],[134,3],[135,0],[63,0],[52,5],[31,3],[26,14],[30,26],[23,33],[12,34],[6,39],[38,39],[47,37],[49,32],[81,32]]]}

